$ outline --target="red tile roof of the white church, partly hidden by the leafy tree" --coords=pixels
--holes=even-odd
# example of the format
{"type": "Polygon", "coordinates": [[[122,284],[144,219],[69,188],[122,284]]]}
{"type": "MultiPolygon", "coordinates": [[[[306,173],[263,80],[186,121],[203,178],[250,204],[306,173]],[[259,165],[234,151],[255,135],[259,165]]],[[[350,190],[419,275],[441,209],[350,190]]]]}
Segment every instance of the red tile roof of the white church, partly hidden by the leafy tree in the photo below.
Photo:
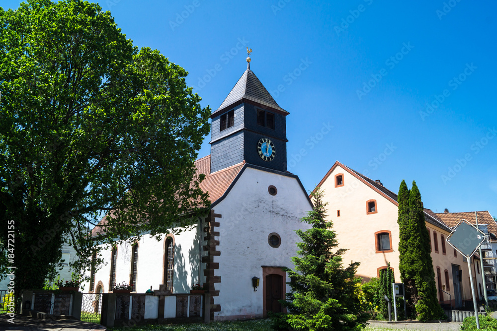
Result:
{"type": "MultiPolygon", "coordinates": [[[[200,183],[200,189],[202,192],[207,192],[209,194],[209,200],[211,203],[214,203],[223,197],[244,165],[245,161],[211,174],[210,155],[195,161],[195,167],[197,168],[196,176],[200,174],[205,175],[204,180],[200,183]]],[[[114,217],[112,213],[110,214],[110,217],[114,217]]],[[[104,234],[105,224],[107,224],[107,216],[103,217],[93,228],[93,230],[91,230],[91,237],[104,234]]]]}

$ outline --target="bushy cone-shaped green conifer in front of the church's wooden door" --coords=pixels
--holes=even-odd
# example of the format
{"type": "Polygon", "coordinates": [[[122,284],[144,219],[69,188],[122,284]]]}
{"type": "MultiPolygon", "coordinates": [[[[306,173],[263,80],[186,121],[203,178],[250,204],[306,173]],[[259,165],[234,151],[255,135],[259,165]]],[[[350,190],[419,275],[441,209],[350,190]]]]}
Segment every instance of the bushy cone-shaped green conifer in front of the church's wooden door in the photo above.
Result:
{"type": "Polygon", "coordinates": [[[342,266],[346,250],[338,248],[332,223],[325,220],[323,192],[316,188],[313,196],[314,210],[302,218],[312,228],[296,231],[302,242],[292,258],[295,270],[285,269],[292,288],[282,301],[290,313],[285,319],[294,330],[362,330],[369,316],[359,300],[359,263],[342,266]]]}

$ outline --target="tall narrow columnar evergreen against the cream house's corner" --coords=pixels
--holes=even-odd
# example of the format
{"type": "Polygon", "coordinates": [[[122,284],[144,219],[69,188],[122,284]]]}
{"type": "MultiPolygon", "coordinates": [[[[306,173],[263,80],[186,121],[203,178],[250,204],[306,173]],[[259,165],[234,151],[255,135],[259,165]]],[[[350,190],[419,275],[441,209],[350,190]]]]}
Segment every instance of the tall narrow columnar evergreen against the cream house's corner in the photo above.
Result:
{"type": "Polygon", "coordinates": [[[406,286],[407,302],[414,308],[411,313],[420,321],[444,318],[438,303],[429,234],[416,182],[413,181],[409,190],[402,181],[398,203],[399,271],[406,286]]]}

